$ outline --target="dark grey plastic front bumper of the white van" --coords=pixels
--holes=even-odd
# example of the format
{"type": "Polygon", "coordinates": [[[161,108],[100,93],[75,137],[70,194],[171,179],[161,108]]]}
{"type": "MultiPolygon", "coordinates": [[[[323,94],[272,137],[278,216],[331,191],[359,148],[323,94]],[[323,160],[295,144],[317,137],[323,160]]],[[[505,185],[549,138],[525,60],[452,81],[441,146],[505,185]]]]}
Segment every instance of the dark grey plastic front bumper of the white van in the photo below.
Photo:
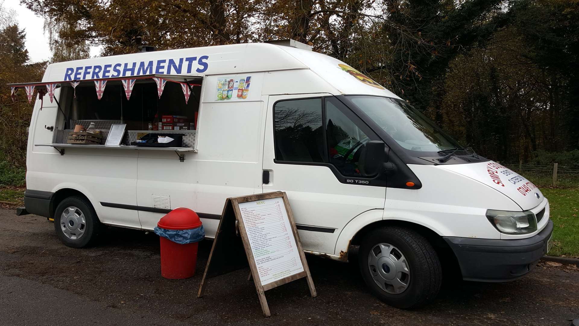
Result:
{"type": "Polygon", "coordinates": [[[547,253],[553,222],[535,236],[517,240],[444,237],[467,281],[505,282],[523,277],[547,253]]]}

